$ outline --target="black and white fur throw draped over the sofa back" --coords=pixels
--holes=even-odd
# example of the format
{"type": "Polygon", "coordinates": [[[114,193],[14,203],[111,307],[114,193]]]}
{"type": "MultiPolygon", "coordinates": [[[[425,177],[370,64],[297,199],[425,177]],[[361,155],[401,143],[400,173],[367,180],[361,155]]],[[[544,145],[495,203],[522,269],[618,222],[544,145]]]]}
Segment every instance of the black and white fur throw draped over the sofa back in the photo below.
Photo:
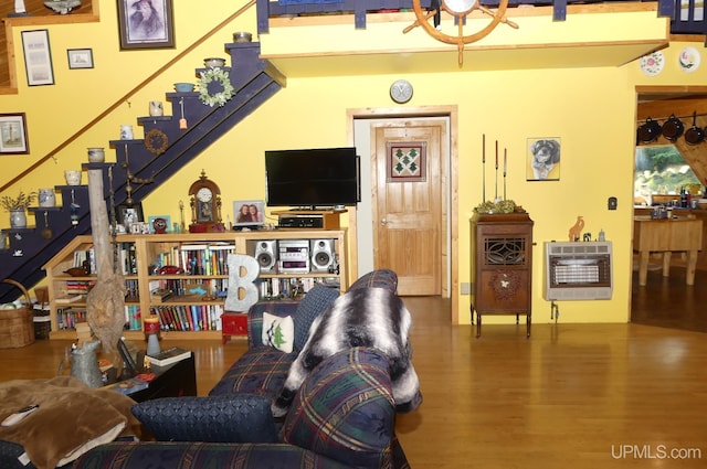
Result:
{"type": "Polygon", "coordinates": [[[352,347],[373,347],[388,356],[395,409],[414,411],[422,395],[408,341],[411,324],[410,311],[388,289],[360,288],[340,296],[312,323],[309,338],[273,403],[273,415],[287,413],[302,383],[324,359],[352,347]]]}

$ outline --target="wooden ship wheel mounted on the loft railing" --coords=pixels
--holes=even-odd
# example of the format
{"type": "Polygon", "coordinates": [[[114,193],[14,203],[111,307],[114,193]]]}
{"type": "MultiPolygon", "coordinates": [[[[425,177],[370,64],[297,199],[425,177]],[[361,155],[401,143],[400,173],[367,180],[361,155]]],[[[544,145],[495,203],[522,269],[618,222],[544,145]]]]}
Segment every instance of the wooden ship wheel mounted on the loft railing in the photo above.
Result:
{"type": "Polygon", "coordinates": [[[412,9],[415,12],[416,21],[405,28],[403,33],[412,31],[416,26],[422,26],[428,34],[437,41],[456,44],[456,49],[460,53],[460,67],[464,64],[464,46],[472,42],[476,42],[486,35],[488,35],[498,23],[508,24],[510,28],[518,29],[518,24],[506,19],[506,9],[508,8],[508,0],[500,0],[498,9],[496,11],[489,10],[479,3],[479,0],[432,0],[432,10],[429,12],[422,11],[420,0],[412,0],[412,9]],[[436,8],[435,8],[436,3],[436,8]],[[440,8],[454,17],[454,22],[457,25],[457,34],[450,35],[439,31],[435,26],[440,23],[440,8]],[[492,18],[490,23],[486,28],[473,33],[464,34],[464,24],[466,23],[466,17],[474,10],[478,10],[484,14],[492,18]],[[434,24],[430,24],[430,20],[434,19],[434,24]]]}

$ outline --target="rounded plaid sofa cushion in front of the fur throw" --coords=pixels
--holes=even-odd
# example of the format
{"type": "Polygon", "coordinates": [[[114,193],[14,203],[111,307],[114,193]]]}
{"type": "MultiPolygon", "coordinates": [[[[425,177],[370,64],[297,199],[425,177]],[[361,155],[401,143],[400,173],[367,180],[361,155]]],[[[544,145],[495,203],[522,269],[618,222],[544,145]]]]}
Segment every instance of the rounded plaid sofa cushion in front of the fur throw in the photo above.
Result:
{"type": "Polygon", "coordinates": [[[389,366],[381,351],[368,348],[325,359],[299,387],[283,441],[349,467],[383,467],[395,425],[389,366]]]}

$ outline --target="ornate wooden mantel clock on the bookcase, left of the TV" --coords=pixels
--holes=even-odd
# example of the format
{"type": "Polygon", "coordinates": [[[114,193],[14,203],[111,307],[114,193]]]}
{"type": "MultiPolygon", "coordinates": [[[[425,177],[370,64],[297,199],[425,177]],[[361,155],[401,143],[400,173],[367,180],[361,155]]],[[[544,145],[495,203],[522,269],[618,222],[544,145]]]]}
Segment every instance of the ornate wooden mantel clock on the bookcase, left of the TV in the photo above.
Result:
{"type": "Polygon", "coordinates": [[[189,233],[221,233],[225,226],[221,221],[221,190],[207,178],[205,171],[189,188],[191,225],[189,233]]]}

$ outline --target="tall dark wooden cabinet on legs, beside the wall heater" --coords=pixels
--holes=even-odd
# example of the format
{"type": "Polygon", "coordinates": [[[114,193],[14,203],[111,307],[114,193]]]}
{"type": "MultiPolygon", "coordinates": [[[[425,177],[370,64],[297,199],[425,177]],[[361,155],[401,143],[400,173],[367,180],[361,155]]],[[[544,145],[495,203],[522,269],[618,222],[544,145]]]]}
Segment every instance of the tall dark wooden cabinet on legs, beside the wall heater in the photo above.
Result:
{"type": "Polygon", "coordinates": [[[530,337],[532,220],[527,213],[477,214],[472,218],[472,322],[484,315],[526,316],[530,337]]]}

